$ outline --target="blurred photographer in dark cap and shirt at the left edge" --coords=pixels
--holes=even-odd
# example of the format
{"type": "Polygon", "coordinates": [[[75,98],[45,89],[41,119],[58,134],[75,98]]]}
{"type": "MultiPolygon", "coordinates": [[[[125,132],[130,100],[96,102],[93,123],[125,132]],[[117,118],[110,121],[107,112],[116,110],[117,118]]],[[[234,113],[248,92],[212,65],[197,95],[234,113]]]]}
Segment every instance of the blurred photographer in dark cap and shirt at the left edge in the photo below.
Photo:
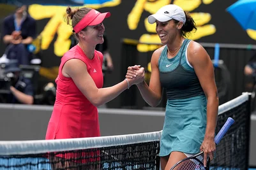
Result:
{"type": "Polygon", "coordinates": [[[10,60],[6,64],[4,74],[10,78],[10,93],[6,96],[6,103],[33,104],[33,86],[31,80],[20,74],[20,67],[17,60],[10,60]]]}

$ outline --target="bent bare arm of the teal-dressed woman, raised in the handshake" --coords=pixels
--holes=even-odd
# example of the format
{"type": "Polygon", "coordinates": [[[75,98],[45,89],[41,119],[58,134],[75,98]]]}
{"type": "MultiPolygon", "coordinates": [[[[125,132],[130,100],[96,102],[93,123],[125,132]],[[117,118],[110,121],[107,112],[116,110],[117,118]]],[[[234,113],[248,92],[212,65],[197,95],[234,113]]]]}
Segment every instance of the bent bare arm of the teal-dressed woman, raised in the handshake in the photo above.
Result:
{"type": "MultiPolygon", "coordinates": [[[[145,81],[142,81],[142,83],[137,84],[137,87],[140,90],[140,94],[143,97],[144,101],[146,101],[147,104],[149,104],[152,107],[158,106],[162,100],[162,87],[160,83],[160,77],[159,77],[159,69],[158,69],[158,59],[160,56],[160,53],[162,52],[162,48],[156,50],[151,58],[151,77],[149,86],[145,81]]],[[[128,74],[126,74],[126,78],[130,78],[132,74],[129,74],[130,71],[133,71],[134,69],[138,69],[136,67],[128,67],[128,74]]]]}

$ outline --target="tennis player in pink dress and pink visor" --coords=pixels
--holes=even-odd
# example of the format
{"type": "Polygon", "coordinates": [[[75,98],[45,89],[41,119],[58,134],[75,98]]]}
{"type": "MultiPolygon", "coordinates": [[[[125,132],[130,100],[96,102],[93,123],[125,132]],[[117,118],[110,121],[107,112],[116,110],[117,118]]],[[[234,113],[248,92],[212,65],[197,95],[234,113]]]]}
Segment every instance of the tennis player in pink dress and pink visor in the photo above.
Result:
{"type": "MultiPolygon", "coordinates": [[[[104,18],[110,17],[110,13],[70,7],[66,9],[66,13],[68,24],[72,20],[73,32],[79,43],[64,53],[61,59],[56,78],[56,101],[45,139],[97,137],[100,136],[100,125],[96,107],[111,101],[133,84],[142,82],[144,68],[141,67],[133,79],[125,78],[112,87],[102,88],[103,55],[95,50],[95,46],[104,41],[105,27],[102,22],[104,18]]],[[[54,159],[80,157],[72,154],[74,153],[57,154],[54,159]]],[[[75,162],[84,163],[87,160],[75,162]]]]}

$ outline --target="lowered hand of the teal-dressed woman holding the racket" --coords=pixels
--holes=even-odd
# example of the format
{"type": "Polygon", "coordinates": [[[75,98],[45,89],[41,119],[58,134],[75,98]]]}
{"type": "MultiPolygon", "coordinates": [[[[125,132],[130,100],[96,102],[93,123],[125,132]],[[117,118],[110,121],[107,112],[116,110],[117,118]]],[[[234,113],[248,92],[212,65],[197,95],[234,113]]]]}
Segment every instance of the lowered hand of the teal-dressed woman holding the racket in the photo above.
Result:
{"type": "Polygon", "coordinates": [[[207,164],[207,157],[213,160],[213,153],[216,150],[216,144],[214,138],[204,138],[200,151],[204,151],[204,166],[207,164]]]}

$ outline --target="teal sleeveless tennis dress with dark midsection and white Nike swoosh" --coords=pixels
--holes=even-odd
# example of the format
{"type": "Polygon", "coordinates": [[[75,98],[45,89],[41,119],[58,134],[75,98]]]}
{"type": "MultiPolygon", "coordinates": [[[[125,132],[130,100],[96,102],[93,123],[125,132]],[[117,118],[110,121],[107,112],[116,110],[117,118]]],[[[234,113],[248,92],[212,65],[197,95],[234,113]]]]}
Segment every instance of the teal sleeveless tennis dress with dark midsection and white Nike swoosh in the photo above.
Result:
{"type": "Polygon", "coordinates": [[[165,122],[160,141],[160,156],[173,151],[198,153],[206,131],[206,96],[186,51],[184,39],[176,57],[167,58],[167,46],[158,60],[160,81],[167,91],[165,122]]]}

